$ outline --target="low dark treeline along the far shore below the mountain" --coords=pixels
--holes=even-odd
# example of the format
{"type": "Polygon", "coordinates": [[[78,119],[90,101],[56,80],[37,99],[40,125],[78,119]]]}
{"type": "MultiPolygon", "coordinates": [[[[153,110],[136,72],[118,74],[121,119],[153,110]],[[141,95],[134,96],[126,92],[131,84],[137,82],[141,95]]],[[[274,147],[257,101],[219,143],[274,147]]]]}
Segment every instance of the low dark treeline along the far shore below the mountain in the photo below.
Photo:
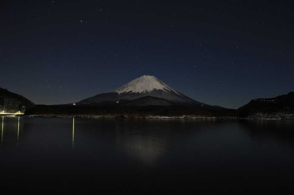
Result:
{"type": "Polygon", "coordinates": [[[180,116],[180,115],[202,115],[208,117],[238,117],[239,112],[236,110],[209,110],[198,107],[190,108],[134,108],[134,107],[77,107],[77,106],[50,106],[50,105],[36,105],[28,108],[25,112],[30,114],[67,114],[67,115],[133,115],[133,116],[180,116]]]}

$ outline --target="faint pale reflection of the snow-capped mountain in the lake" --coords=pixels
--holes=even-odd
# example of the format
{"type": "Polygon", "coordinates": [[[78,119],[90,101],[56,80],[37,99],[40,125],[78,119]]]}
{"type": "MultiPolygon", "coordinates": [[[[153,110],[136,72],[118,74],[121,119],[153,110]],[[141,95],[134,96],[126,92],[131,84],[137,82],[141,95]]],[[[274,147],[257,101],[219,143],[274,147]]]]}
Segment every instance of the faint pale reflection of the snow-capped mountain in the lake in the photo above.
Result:
{"type": "Polygon", "coordinates": [[[132,158],[154,166],[172,152],[169,151],[171,148],[185,144],[187,138],[199,132],[203,123],[213,123],[213,121],[138,119],[136,122],[128,123],[129,127],[117,123],[116,143],[121,151],[132,158]],[[137,123],[135,128],[134,123],[137,123]]]}

